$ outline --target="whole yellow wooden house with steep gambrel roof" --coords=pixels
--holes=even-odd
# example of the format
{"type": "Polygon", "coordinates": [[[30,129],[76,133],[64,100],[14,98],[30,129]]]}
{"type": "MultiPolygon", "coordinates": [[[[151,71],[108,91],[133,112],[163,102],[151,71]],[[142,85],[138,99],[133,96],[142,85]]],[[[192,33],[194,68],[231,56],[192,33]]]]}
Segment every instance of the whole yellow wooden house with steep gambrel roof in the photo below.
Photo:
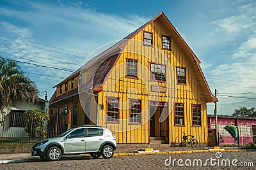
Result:
{"type": "Polygon", "coordinates": [[[163,12],[97,52],[56,85],[51,114],[70,112],[71,127],[107,127],[117,143],[180,143],[185,132],[206,145],[206,104],[218,99],[163,12]]]}

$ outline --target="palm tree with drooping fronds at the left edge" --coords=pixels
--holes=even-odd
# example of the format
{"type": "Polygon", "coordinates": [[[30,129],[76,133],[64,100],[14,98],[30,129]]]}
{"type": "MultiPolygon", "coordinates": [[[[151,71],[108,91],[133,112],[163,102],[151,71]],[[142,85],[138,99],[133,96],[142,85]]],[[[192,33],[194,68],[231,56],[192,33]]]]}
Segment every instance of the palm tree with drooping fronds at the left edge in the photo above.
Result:
{"type": "Polygon", "coordinates": [[[17,61],[0,59],[0,110],[11,106],[13,101],[34,103],[38,89],[33,81],[24,75],[17,61]]]}

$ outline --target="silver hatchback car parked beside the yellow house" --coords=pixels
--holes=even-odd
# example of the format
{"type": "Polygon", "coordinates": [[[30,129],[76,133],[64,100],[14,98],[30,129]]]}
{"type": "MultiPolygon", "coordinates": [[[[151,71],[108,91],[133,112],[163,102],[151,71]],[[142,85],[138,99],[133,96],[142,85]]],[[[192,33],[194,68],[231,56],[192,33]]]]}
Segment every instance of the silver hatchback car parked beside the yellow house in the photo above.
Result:
{"type": "Polygon", "coordinates": [[[90,153],[93,159],[109,159],[116,150],[115,135],[100,126],[84,125],[64,132],[56,138],[44,139],[33,145],[32,156],[42,160],[59,160],[61,155],[90,153]]]}

